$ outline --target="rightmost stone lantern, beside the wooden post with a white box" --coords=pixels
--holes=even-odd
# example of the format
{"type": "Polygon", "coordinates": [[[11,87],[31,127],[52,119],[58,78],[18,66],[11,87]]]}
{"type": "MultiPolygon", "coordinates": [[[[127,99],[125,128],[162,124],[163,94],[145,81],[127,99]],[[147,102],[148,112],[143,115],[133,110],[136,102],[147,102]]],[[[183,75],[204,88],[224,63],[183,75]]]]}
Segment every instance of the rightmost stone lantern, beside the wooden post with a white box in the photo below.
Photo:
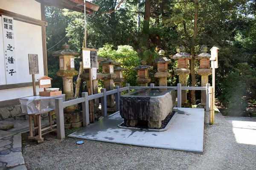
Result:
{"type": "MultiPolygon", "coordinates": [[[[196,59],[200,59],[199,69],[196,71],[198,75],[201,76],[201,86],[205,87],[208,83],[208,76],[212,74],[212,69],[210,68],[210,58],[211,54],[207,53],[207,46],[202,45],[201,54],[196,56],[196,59]]],[[[201,104],[197,105],[197,108],[205,108],[206,105],[206,91],[201,91],[201,104]]]]}

